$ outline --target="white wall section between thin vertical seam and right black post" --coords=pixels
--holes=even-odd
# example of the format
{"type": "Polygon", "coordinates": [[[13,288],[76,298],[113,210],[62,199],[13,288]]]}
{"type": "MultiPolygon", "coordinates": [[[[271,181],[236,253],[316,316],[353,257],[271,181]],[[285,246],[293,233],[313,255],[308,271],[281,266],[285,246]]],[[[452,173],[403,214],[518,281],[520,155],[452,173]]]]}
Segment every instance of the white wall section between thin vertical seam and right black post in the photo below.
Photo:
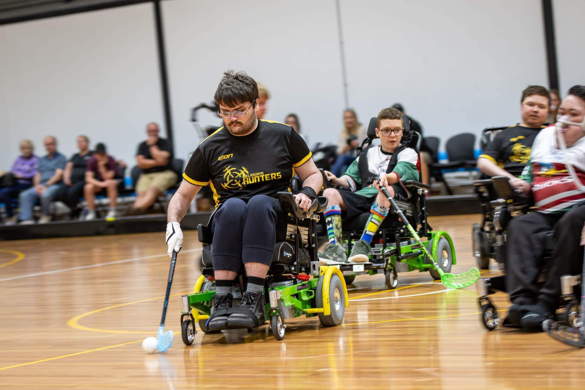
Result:
{"type": "Polygon", "coordinates": [[[519,122],[522,89],[548,84],[538,0],[341,4],[350,105],[364,123],[401,102],[444,147],[519,122]]]}

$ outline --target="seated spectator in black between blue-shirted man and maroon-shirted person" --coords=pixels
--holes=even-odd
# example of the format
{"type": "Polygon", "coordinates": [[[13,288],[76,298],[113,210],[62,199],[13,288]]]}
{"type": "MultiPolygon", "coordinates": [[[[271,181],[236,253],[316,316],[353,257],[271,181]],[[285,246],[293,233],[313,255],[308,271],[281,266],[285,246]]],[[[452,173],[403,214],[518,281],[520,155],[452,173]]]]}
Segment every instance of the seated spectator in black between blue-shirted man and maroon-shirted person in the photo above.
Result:
{"type": "Polygon", "coordinates": [[[90,150],[90,140],[86,136],[77,137],[77,148],[79,149],[79,153],[71,156],[71,159],[65,165],[63,184],[60,185],[55,198],[57,201],[61,201],[67,205],[71,210],[71,218],[77,218],[81,212],[77,207],[77,203],[79,203],[79,199],[83,196],[87,163],[94,154],[90,150]]]}

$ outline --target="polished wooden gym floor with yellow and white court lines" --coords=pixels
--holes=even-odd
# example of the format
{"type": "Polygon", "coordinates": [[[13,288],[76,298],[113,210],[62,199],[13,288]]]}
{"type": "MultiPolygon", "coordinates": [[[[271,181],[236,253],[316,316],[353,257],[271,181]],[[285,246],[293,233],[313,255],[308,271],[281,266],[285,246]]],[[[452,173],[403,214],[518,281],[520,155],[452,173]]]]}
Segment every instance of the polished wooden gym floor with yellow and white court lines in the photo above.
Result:
{"type": "MultiPolygon", "coordinates": [[[[479,216],[431,218],[449,232],[458,263],[474,265],[479,216]]],[[[0,387],[43,388],[583,388],[585,351],[543,333],[497,329],[479,319],[475,287],[448,291],[428,273],[383,275],[350,286],[341,326],[288,320],[269,327],[180,336],[180,295],[192,291],[201,245],[195,232],[175,272],[166,354],[146,355],[156,337],[168,274],[164,233],[0,243],[0,387]]],[[[491,273],[497,274],[495,265],[491,273]]],[[[488,275],[487,273],[484,275],[488,275]]],[[[504,294],[494,303],[505,316],[504,294]]]]}

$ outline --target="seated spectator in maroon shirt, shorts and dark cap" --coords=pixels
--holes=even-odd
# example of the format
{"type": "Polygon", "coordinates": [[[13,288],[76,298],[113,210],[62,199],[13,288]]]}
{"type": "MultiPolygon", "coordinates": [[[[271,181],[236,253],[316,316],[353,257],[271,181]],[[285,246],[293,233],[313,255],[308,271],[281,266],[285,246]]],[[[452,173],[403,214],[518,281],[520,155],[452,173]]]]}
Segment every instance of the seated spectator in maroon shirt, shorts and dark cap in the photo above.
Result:
{"type": "Polygon", "coordinates": [[[95,219],[95,195],[105,192],[109,199],[109,210],[106,220],[116,218],[116,199],[118,198],[118,181],[115,180],[118,166],[115,158],[106,154],[102,143],[95,146],[95,154],[87,163],[85,171],[84,194],[88,213],[85,220],[95,219]]]}

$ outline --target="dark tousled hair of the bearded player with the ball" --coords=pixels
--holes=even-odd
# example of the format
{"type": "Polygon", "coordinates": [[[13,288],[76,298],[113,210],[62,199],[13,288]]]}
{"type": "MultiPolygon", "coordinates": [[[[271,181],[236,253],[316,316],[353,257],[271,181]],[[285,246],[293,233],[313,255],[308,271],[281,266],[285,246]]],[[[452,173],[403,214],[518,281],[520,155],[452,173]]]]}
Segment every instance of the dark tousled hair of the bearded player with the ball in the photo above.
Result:
{"type": "Polygon", "coordinates": [[[258,85],[246,72],[227,70],[215,91],[215,102],[233,107],[244,102],[253,103],[258,98],[258,85]]]}

